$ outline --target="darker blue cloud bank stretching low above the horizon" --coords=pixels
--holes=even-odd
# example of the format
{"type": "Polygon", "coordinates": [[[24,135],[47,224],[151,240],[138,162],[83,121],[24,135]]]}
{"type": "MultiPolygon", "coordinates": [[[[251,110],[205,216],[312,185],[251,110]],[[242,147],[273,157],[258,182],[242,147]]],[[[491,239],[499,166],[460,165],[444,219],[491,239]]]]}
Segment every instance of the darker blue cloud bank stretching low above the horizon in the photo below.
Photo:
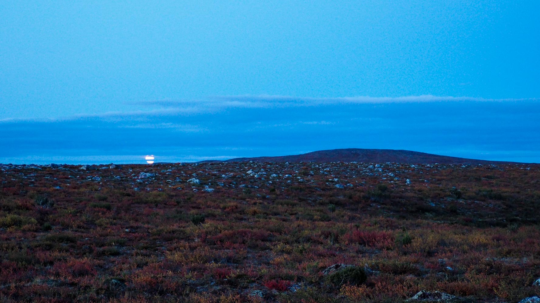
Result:
{"type": "Polygon", "coordinates": [[[349,147],[540,162],[540,99],[230,96],[138,105],[1,121],[0,162],[126,163],[141,159],[124,155],[145,154],[195,161],[349,147]]]}

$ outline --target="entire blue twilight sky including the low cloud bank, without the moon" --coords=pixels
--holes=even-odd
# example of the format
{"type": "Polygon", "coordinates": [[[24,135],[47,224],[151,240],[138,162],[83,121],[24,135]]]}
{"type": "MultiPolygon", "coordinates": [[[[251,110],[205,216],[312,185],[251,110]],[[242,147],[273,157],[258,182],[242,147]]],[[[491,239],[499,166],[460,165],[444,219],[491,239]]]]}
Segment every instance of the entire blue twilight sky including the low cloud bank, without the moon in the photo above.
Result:
{"type": "Polygon", "coordinates": [[[540,162],[538,1],[0,5],[0,163],[540,162]]]}

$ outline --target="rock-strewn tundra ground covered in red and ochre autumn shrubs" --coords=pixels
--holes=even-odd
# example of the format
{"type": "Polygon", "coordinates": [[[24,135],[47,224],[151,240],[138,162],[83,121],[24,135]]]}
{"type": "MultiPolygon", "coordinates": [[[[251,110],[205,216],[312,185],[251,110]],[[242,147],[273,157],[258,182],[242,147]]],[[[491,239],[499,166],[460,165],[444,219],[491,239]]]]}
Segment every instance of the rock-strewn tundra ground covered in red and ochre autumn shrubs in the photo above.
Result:
{"type": "Polygon", "coordinates": [[[535,302],[539,177],[538,164],[0,164],[0,300],[535,302]]]}

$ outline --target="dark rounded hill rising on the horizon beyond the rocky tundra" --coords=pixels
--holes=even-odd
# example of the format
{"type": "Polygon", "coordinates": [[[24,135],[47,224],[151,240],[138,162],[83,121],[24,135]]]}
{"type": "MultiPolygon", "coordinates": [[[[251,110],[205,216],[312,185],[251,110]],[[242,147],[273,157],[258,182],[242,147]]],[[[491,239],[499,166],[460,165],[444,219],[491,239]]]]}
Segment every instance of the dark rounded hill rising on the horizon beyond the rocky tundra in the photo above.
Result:
{"type": "MultiPolygon", "coordinates": [[[[441,156],[420,152],[412,152],[410,150],[397,149],[362,149],[362,148],[345,148],[345,149],[329,149],[319,150],[301,155],[290,156],[274,156],[274,157],[252,157],[252,158],[235,158],[226,160],[225,162],[363,162],[363,163],[408,163],[408,164],[504,164],[516,162],[503,161],[488,161],[465,159],[450,156],[441,156]]],[[[207,161],[203,161],[207,162],[207,161]]],[[[221,161],[220,161],[221,162],[221,161]]]]}

